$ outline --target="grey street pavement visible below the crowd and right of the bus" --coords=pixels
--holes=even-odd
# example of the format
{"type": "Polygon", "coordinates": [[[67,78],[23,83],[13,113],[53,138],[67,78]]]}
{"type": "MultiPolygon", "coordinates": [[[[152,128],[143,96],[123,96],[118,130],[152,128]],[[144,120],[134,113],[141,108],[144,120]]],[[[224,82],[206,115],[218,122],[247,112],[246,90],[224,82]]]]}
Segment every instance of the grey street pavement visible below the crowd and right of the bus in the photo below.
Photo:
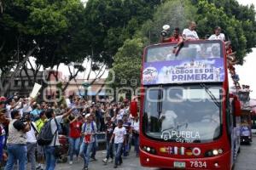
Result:
{"type": "MultiPolygon", "coordinates": [[[[90,161],[90,170],[110,170],[113,169],[113,163],[104,165],[102,159],[106,156],[105,150],[97,151],[97,161],[90,161]]],[[[236,166],[234,170],[256,170],[256,136],[253,137],[253,143],[251,145],[241,145],[241,152],[236,160],[236,166]]],[[[73,162],[73,165],[68,163],[58,163],[56,166],[57,170],[82,170],[84,161],[73,162]]],[[[130,156],[127,156],[123,160],[123,164],[118,167],[119,170],[158,170],[157,168],[141,167],[139,158],[135,156],[134,152],[131,152],[130,156]]]]}

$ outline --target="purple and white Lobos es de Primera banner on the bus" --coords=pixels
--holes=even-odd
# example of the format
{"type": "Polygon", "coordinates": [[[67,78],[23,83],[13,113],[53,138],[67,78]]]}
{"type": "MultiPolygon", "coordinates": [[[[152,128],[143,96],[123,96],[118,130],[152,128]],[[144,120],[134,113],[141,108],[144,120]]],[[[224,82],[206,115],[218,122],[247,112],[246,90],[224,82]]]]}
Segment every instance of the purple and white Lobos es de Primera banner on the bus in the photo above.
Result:
{"type": "Polygon", "coordinates": [[[144,63],[144,85],[223,81],[224,59],[221,58],[144,63]]]}

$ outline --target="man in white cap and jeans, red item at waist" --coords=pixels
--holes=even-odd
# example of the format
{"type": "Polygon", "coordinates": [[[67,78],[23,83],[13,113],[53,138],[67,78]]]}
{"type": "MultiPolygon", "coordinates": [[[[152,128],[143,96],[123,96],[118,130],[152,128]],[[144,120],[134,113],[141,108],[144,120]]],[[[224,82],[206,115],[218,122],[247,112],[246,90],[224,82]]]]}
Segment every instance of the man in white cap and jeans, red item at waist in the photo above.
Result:
{"type": "Polygon", "coordinates": [[[96,123],[92,120],[93,117],[88,113],[85,115],[85,122],[82,126],[82,134],[84,134],[84,170],[88,170],[90,151],[92,150],[93,144],[96,140],[96,123]]]}

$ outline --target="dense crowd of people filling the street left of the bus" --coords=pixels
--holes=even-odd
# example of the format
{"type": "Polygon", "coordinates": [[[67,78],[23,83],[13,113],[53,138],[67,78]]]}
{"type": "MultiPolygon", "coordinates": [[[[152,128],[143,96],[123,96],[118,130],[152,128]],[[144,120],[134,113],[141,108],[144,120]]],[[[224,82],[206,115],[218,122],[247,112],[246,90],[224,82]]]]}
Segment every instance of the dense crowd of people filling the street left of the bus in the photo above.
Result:
{"type": "Polygon", "coordinates": [[[99,133],[106,136],[104,164],[113,162],[114,168],[121,165],[122,156],[129,155],[132,143],[139,156],[139,119],[131,116],[127,99],[94,103],[72,96],[66,100],[69,100],[67,104],[58,104],[18,96],[0,98],[0,158],[7,160],[4,170],[13,169],[15,164],[25,170],[28,161],[32,170],[55,169],[60,155],[60,134],[68,137],[69,164],[83,158],[84,170],[88,169],[90,160],[96,160],[99,133]],[[54,137],[50,144],[42,145],[38,136],[48,122],[54,137]]]}

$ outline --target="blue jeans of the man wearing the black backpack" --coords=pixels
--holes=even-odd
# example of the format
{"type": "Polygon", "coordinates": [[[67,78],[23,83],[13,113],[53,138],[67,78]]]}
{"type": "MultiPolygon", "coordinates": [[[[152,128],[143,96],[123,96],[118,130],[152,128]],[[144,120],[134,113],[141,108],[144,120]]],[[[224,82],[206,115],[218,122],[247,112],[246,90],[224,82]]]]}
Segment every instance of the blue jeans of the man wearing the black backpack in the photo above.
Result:
{"type": "Polygon", "coordinates": [[[56,165],[55,147],[45,146],[46,168],[45,170],[54,170],[56,165]]]}

